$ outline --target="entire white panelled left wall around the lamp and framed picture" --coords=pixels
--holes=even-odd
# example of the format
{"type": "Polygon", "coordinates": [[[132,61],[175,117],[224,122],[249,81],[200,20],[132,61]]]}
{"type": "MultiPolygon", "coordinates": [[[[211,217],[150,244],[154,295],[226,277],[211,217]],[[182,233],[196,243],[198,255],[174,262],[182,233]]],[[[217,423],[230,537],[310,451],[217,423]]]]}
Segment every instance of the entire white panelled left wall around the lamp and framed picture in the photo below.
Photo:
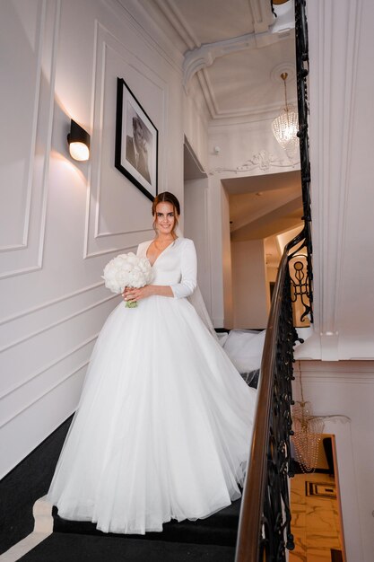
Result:
{"type": "Polygon", "coordinates": [[[152,237],[151,202],[114,167],[117,76],[159,130],[159,190],[181,203],[184,140],[182,57],[168,56],[143,8],[5,4],[0,478],[76,408],[97,334],[120,302],[102,269],[152,237]],[[91,134],[89,162],[68,155],[70,119],[91,134]]]}

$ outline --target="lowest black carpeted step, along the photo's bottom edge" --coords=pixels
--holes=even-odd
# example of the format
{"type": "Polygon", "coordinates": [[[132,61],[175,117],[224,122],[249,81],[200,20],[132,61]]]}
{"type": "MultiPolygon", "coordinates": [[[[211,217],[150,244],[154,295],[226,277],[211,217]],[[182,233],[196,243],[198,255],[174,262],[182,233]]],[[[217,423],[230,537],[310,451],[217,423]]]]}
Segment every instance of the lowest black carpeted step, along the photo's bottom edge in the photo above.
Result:
{"type": "MultiPolygon", "coordinates": [[[[158,533],[159,537],[161,533],[158,533]]],[[[54,532],[22,562],[234,562],[233,547],[54,532]]]]}

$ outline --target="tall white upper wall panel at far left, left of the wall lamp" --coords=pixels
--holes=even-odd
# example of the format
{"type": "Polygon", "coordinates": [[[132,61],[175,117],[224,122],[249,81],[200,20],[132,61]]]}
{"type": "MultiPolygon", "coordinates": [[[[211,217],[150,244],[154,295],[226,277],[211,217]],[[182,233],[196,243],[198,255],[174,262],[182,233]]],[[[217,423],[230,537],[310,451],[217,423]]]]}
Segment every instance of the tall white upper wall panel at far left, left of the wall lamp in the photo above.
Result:
{"type": "Polygon", "coordinates": [[[58,0],[2,5],[0,278],[42,264],[58,22],[58,0]]]}

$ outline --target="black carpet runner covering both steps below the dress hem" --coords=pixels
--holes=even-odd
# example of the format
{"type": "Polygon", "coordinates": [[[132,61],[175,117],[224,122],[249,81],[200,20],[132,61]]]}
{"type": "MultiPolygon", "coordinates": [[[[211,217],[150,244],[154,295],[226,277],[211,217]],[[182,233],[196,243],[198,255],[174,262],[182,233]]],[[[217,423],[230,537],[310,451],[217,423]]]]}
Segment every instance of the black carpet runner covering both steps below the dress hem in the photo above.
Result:
{"type": "Polygon", "coordinates": [[[103,533],[91,522],[61,519],[54,531],[20,558],[23,562],[233,562],[240,500],[196,522],[171,521],[145,535],[103,533]]]}

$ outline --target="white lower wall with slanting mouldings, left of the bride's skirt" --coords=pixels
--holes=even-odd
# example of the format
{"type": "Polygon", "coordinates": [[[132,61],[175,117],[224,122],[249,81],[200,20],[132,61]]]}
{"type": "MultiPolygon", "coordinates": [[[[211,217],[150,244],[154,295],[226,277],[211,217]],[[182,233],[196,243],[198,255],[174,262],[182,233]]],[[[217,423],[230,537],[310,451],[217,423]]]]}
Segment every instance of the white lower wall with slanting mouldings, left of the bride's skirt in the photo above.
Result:
{"type": "Polygon", "coordinates": [[[2,321],[0,478],[74,411],[113,302],[118,297],[100,283],[2,321]]]}

